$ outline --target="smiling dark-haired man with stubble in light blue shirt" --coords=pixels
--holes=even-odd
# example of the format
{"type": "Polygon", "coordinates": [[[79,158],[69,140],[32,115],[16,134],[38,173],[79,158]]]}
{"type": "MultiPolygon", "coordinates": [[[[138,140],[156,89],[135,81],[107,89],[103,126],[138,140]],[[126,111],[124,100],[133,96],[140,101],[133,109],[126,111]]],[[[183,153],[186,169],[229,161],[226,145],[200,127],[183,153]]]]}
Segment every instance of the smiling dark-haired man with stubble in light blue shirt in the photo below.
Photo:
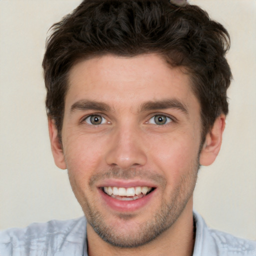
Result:
{"type": "Polygon", "coordinates": [[[51,149],[85,218],[1,233],[3,255],[255,255],[192,212],[221,145],[229,36],[199,7],[83,1],[43,60],[51,149]]]}

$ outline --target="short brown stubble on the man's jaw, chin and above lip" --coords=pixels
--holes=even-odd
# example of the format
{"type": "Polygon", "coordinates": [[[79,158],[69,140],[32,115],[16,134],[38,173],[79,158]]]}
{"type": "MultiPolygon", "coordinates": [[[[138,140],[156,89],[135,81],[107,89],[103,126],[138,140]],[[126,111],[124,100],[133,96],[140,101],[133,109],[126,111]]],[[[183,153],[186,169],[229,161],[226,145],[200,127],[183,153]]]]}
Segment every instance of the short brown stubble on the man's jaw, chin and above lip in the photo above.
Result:
{"type": "MultiPolygon", "coordinates": [[[[152,217],[139,224],[139,227],[134,231],[125,232],[121,226],[109,225],[104,219],[103,212],[96,209],[94,204],[89,203],[89,200],[84,195],[83,201],[79,202],[82,206],[84,215],[87,218],[88,224],[92,226],[93,230],[107,243],[120,247],[120,248],[135,248],[149,243],[166,229],[168,229],[182,213],[186,206],[187,201],[192,196],[196,179],[197,172],[199,169],[198,160],[192,164],[189,174],[182,177],[180,184],[175,188],[174,191],[169,194],[169,200],[163,199],[158,210],[152,215],[152,217]]],[[[108,171],[108,176],[118,178],[131,178],[136,175],[139,177],[139,171],[108,171]],[[114,174],[116,173],[116,174],[114,174]],[[129,174],[127,174],[129,173],[129,174]]],[[[107,176],[107,174],[104,174],[107,176]]],[[[94,182],[92,177],[90,185],[94,182]]],[[[97,178],[96,178],[97,179],[97,178]]],[[[166,182],[166,181],[165,181],[166,182]]],[[[113,218],[128,220],[135,217],[135,213],[119,213],[113,215],[113,218]]]]}

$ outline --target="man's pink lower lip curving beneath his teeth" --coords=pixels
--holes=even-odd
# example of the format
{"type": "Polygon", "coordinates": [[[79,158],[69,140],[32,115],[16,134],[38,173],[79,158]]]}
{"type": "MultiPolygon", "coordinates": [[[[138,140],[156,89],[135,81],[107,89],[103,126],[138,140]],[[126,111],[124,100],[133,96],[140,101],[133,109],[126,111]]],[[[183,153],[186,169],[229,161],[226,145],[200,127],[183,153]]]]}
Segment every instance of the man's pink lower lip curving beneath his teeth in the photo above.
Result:
{"type": "Polygon", "coordinates": [[[123,201],[118,200],[116,198],[113,198],[109,196],[108,194],[104,193],[100,188],[98,188],[99,193],[101,195],[101,198],[104,200],[104,202],[113,210],[115,211],[135,211],[139,208],[142,208],[145,206],[149,201],[152,199],[152,196],[155,194],[156,189],[154,189],[149,194],[136,199],[136,200],[130,200],[130,201],[123,201]]]}

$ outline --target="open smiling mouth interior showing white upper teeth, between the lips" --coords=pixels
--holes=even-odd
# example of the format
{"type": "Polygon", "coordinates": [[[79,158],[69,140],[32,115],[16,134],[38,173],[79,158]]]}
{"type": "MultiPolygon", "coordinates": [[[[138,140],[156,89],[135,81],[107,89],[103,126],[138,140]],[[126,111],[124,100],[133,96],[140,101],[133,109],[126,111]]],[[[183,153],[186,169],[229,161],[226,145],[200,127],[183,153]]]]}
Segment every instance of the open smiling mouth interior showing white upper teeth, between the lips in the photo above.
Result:
{"type": "Polygon", "coordinates": [[[100,189],[112,198],[121,201],[133,201],[140,199],[151,193],[155,187],[150,186],[132,186],[132,187],[117,187],[103,186],[100,189]]]}

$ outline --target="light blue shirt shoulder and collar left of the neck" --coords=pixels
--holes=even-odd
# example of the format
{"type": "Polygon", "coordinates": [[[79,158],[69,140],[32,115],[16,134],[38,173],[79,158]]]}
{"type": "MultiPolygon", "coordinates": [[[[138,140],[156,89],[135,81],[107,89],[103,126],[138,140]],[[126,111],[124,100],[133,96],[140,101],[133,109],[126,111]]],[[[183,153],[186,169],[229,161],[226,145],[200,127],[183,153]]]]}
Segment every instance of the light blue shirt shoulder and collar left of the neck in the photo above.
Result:
{"type": "Polygon", "coordinates": [[[68,255],[82,251],[85,237],[85,217],[32,223],[0,231],[0,255],[68,255]]]}

